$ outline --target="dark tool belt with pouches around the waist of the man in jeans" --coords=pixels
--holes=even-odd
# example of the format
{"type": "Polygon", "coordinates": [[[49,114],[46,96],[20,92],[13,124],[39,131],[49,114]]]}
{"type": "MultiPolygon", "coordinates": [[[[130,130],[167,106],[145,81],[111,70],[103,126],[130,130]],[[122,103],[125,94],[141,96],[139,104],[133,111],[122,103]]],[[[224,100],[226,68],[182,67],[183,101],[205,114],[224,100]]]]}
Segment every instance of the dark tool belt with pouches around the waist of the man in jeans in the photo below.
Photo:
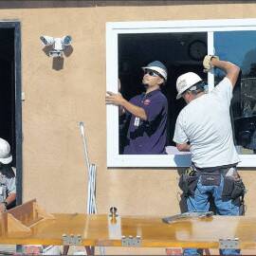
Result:
{"type": "Polygon", "coordinates": [[[229,201],[240,207],[240,213],[245,213],[244,196],[246,187],[243,180],[236,171],[236,166],[223,166],[214,168],[196,168],[193,164],[179,179],[179,188],[183,191],[185,197],[193,196],[199,178],[203,186],[219,186],[221,177],[224,177],[224,186],[222,200],[229,201]],[[233,168],[229,174],[230,168],[233,168]]]}

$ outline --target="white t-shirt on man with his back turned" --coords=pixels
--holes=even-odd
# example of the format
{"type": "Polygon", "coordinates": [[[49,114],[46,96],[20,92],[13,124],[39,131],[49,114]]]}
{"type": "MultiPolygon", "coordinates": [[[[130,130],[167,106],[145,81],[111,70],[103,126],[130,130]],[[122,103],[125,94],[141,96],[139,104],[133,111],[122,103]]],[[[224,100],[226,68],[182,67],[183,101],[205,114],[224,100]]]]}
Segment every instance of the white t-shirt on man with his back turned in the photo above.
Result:
{"type": "Polygon", "coordinates": [[[232,84],[228,78],[185,106],[179,113],[174,142],[191,143],[196,167],[216,167],[240,161],[236,152],[229,115],[232,84]]]}

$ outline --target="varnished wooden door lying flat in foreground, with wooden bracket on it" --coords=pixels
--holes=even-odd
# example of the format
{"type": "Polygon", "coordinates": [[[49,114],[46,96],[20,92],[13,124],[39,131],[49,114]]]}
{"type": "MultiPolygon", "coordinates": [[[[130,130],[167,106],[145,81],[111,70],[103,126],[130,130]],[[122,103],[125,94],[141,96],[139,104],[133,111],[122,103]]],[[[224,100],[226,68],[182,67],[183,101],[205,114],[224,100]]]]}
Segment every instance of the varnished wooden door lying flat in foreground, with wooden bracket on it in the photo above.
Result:
{"type": "MultiPolygon", "coordinates": [[[[93,247],[121,247],[122,236],[139,236],[140,247],[218,248],[219,239],[238,238],[240,248],[256,248],[256,217],[213,216],[166,224],[162,216],[119,216],[115,222],[106,214],[48,214],[34,201],[32,205],[9,213],[12,224],[8,222],[9,232],[1,233],[0,244],[63,245],[63,235],[73,234],[81,235],[81,246],[93,247]]],[[[1,225],[6,225],[1,219],[1,225]]]]}

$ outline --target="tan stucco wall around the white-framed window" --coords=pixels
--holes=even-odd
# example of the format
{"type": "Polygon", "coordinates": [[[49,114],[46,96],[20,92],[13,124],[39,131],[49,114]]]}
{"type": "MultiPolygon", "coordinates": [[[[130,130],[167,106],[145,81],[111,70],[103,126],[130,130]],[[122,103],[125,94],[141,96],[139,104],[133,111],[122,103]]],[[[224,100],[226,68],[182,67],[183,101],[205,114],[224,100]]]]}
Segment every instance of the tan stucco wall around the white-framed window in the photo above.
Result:
{"type": "MultiPolygon", "coordinates": [[[[47,1],[46,1],[47,2],[47,1]]],[[[75,5],[75,4],[74,4],[75,5]]],[[[79,121],[85,122],[90,160],[97,164],[101,213],[179,212],[178,174],[169,169],[106,168],[105,23],[187,19],[254,18],[256,3],[81,8],[0,9],[0,19],[18,19],[22,31],[23,200],[37,198],[50,212],[84,212],[86,169],[79,121]],[[64,68],[52,68],[43,34],[73,38],[64,68]]],[[[256,179],[243,171],[247,214],[255,215],[256,179]]]]}

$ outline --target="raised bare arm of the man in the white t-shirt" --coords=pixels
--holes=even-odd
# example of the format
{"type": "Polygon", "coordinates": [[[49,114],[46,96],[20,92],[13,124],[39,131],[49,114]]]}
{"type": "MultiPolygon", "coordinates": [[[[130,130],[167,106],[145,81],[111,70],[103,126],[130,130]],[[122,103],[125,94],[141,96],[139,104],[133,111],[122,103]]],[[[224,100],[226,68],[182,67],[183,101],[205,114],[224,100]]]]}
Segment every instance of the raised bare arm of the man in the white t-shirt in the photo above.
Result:
{"type": "Polygon", "coordinates": [[[232,83],[232,86],[235,86],[235,83],[237,82],[239,72],[240,72],[240,67],[237,66],[236,64],[232,64],[229,62],[225,61],[219,61],[216,58],[212,58],[210,63],[213,66],[216,66],[226,72],[226,77],[229,78],[229,81],[232,83]]]}

